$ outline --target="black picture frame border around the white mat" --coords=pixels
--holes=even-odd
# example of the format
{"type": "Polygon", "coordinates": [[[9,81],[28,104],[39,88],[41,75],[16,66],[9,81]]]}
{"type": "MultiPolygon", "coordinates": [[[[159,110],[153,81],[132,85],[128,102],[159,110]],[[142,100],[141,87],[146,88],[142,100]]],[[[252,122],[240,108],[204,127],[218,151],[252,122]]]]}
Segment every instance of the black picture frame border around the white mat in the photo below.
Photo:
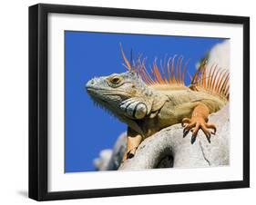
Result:
{"type": "Polygon", "coordinates": [[[29,198],[66,200],[250,187],[250,18],[75,5],[29,7],[29,198]],[[243,25],[243,180],[101,190],[47,190],[47,15],[50,13],[166,19],[243,25]]]}

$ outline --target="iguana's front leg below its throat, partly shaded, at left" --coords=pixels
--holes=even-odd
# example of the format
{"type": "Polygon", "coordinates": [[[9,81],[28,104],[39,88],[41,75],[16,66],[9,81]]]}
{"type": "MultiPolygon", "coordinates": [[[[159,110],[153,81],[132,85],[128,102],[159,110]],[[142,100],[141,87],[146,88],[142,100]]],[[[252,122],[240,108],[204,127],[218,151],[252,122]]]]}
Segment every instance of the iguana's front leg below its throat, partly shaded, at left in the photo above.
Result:
{"type": "Polygon", "coordinates": [[[142,136],[128,127],[127,151],[124,154],[123,161],[134,157],[140,142],[142,142],[142,136]]]}

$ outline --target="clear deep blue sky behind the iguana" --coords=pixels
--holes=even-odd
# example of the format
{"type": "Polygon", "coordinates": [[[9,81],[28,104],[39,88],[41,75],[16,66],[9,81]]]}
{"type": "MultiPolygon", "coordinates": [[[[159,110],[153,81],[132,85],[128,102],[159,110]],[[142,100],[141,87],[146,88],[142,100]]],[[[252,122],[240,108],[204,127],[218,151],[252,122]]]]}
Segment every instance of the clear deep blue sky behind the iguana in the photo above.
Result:
{"type": "Polygon", "coordinates": [[[188,71],[195,73],[196,63],[220,38],[161,36],[144,34],[108,34],[65,32],[65,171],[95,171],[93,160],[99,151],[111,149],[127,126],[118,122],[89,98],[85,84],[95,76],[122,73],[126,69],[119,44],[128,56],[143,54],[147,64],[182,54],[190,59],[188,71]]]}

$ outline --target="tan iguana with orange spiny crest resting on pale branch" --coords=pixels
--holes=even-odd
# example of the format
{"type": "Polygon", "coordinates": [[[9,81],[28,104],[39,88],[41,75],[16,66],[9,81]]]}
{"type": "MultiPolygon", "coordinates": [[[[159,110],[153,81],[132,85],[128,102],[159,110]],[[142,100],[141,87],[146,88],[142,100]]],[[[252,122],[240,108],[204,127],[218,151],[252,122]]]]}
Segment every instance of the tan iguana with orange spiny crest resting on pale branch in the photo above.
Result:
{"type": "Polygon", "coordinates": [[[145,138],[176,123],[184,127],[183,137],[192,132],[192,144],[200,129],[210,142],[210,135],[217,129],[208,122],[208,116],[229,101],[228,71],[217,65],[207,69],[207,60],[203,60],[193,77],[190,76],[190,85],[186,86],[188,62],[182,66],[183,57],[176,61],[177,56],[169,58],[161,66],[161,72],[155,61],[149,74],[145,59],[128,61],[122,48],[121,54],[128,72],[93,78],[86,87],[93,101],[128,124],[124,161],[135,155],[145,138]]]}

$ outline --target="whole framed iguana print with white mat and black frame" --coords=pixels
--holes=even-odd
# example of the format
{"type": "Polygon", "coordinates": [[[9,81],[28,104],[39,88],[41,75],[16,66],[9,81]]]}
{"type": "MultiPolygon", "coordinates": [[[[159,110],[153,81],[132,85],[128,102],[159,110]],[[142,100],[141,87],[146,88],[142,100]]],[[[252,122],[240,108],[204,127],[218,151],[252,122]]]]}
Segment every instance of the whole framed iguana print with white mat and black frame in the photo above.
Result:
{"type": "Polygon", "coordinates": [[[29,197],[250,186],[250,20],[29,7],[29,197]]]}

